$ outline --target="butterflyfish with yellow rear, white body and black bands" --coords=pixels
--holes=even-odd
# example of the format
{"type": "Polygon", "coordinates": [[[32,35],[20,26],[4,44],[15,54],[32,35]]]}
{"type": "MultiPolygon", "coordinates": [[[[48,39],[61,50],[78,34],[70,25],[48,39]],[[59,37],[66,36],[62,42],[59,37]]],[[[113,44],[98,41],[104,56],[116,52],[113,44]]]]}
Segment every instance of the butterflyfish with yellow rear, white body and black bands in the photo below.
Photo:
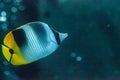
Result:
{"type": "Polygon", "coordinates": [[[27,65],[55,52],[67,36],[47,23],[29,22],[5,35],[2,53],[12,65],[27,65]]]}

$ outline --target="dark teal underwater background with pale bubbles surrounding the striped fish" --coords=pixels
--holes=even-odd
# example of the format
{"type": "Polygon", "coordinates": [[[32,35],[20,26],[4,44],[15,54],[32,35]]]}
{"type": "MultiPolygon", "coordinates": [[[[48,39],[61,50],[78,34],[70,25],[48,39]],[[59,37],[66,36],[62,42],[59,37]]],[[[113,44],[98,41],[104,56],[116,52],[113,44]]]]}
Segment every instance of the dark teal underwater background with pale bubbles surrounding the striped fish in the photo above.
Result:
{"type": "Polygon", "coordinates": [[[24,66],[9,64],[0,50],[0,80],[120,80],[120,0],[0,0],[1,44],[33,21],[69,36],[53,54],[24,66]]]}

